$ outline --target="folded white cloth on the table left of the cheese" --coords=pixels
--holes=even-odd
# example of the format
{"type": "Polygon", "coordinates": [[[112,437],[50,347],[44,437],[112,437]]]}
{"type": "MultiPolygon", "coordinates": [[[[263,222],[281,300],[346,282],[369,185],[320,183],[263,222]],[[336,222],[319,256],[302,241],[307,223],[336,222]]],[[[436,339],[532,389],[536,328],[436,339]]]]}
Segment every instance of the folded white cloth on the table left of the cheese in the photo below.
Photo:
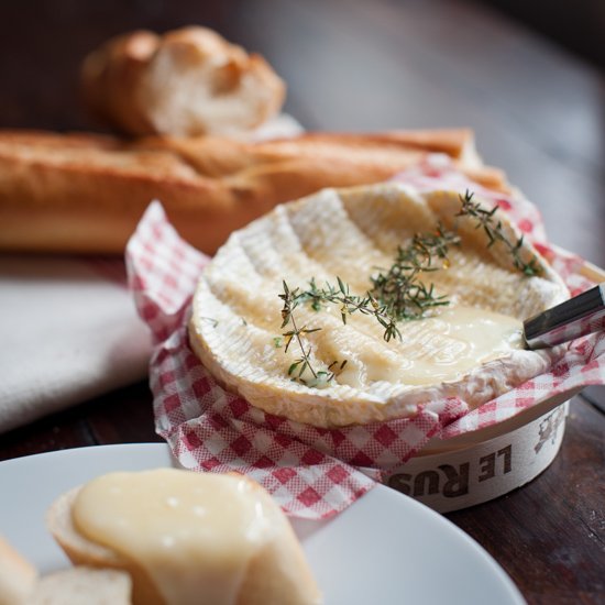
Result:
{"type": "Polygon", "coordinates": [[[147,375],[121,258],[0,254],[0,432],[147,375]]]}

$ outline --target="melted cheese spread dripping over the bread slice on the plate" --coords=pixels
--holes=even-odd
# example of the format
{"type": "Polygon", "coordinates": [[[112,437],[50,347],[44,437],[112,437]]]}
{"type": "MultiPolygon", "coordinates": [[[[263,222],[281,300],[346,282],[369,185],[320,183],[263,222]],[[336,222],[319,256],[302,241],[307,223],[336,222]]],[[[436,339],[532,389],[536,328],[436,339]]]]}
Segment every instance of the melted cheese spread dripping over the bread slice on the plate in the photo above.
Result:
{"type": "Polygon", "coordinates": [[[250,482],[175,469],[110,473],[76,498],[78,531],[153,579],[167,604],[234,603],[271,512],[250,482]]]}

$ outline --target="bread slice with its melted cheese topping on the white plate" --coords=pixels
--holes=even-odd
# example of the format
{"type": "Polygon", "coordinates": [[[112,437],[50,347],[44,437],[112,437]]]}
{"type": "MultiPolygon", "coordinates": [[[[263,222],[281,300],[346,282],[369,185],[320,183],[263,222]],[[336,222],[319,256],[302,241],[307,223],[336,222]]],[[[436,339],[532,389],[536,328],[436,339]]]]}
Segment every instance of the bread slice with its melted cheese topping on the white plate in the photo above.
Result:
{"type": "Polygon", "coordinates": [[[285,515],[241,475],[111,473],[57,499],[47,525],[76,564],[128,571],[135,605],[320,602],[285,515]]]}

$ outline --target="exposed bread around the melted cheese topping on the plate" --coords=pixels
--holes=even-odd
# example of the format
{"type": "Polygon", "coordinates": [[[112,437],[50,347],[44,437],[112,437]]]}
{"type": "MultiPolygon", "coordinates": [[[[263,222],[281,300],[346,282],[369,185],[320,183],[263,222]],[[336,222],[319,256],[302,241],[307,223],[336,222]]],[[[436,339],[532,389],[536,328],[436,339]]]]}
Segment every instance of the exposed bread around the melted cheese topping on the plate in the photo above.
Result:
{"type": "MultiPolygon", "coordinates": [[[[162,472],[166,471],[186,472],[175,470],[162,472]]],[[[204,479],[205,475],[198,476],[204,479]]],[[[217,475],[212,474],[212,479],[216,477],[217,475]]],[[[255,502],[268,514],[271,537],[250,559],[244,575],[239,581],[233,602],[238,605],[320,603],[319,591],[300,544],[283,512],[258,484],[241,475],[237,475],[237,479],[250,487],[255,502]]],[[[168,601],[163,596],[158,583],[144,565],[81,534],[73,517],[74,503],[79,491],[80,488],[75,488],[64,494],[52,505],[47,514],[47,527],[68,558],[78,565],[128,572],[133,582],[135,605],[167,604],[168,601]]],[[[148,503],[142,503],[142,506],[148,503]]],[[[212,553],[209,553],[209,557],[211,556],[212,553]]],[[[200,568],[200,574],[202,573],[204,569],[200,568]]],[[[186,576],[183,575],[183,578],[186,576]]],[[[180,581],[184,582],[184,580],[180,581]]],[[[217,584],[220,585],[218,580],[217,584]]],[[[200,602],[205,602],[207,597],[200,594],[199,598],[200,602]]]]}

